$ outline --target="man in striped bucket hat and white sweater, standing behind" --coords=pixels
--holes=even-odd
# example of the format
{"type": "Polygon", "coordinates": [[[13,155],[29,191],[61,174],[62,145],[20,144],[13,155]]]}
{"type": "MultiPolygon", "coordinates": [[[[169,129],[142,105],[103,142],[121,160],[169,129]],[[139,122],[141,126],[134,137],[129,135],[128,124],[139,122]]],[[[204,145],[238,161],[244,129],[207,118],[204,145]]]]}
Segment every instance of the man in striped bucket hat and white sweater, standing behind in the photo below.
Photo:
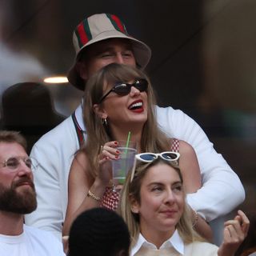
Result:
{"type": "MultiPolygon", "coordinates": [[[[68,78],[80,90],[84,89],[87,78],[102,66],[118,62],[143,69],[150,61],[150,48],[131,37],[121,20],[112,14],[94,14],[84,19],[74,30],[73,42],[76,58],[68,78]]],[[[181,110],[171,107],[156,106],[156,114],[166,134],[190,143],[197,153],[203,185],[197,193],[187,195],[190,206],[207,222],[238,206],[245,198],[242,183],[214,150],[200,126],[181,110]]],[[[31,156],[38,159],[41,169],[34,176],[38,209],[26,216],[27,224],[52,230],[61,238],[70,164],[84,138],[82,106],[78,106],[72,116],[35,143],[31,156]]]]}

